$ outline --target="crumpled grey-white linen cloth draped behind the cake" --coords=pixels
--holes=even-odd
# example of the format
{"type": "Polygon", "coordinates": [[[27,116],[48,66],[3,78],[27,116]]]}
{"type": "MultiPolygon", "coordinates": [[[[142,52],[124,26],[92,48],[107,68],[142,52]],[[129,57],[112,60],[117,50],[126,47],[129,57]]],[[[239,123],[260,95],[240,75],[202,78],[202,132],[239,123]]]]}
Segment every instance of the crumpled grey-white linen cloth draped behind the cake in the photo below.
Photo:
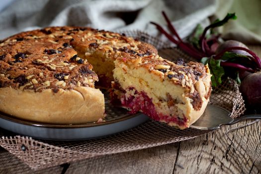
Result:
{"type": "MultiPolygon", "coordinates": [[[[181,38],[197,25],[209,23],[216,0],[1,0],[0,39],[46,26],[90,26],[98,29],[142,30],[160,35],[150,21],[166,27],[161,11],[171,18],[181,38]],[[6,2],[8,1],[8,2],[6,2]],[[7,3],[7,4],[6,4],[7,3]],[[8,4],[9,3],[9,4],[8,4]]],[[[166,38],[160,35],[162,39],[166,38]]]]}

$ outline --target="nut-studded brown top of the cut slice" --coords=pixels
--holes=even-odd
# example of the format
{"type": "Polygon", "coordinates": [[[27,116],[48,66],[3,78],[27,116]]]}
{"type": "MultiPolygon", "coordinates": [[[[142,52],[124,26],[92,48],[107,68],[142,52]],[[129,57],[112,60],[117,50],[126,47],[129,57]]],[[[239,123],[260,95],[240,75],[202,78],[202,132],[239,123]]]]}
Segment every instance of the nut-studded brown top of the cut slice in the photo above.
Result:
{"type": "Polygon", "coordinates": [[[191,83],[194,84],[198,79],[206,77],[206,69],[201,63],[189,62],[185,64],[183,62],[183,64],[179,64],[177,62],[181,62],[181,60],[171,62],[158,55],[150,55],[142,59],[134,56],[119,57],[117,61],[131,66],[145,67],[151,73],[182,87],[191,87],[191,83]],[[182,81],[183,79],[185,81],[182,81]],[[188,83],[190,80],[191,82],[188,83]]]}

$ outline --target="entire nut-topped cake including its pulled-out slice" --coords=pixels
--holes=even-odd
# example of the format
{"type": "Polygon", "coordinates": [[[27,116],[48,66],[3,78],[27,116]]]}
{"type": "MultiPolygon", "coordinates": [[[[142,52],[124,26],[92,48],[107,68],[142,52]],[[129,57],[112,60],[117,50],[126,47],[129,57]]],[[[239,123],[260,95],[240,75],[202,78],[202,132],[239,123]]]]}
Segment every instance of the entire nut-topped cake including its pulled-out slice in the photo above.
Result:
{"type": "Polygon", "coordinates": [[[113,101],[131,113],[182,129],[200,116],[211,91],[207,66],[167,61],[124,34],[48,27],[8,37],[0,48],[0,111],[26,120],[96,122],[105,115],[99,88],[111,87],[113,101]]]}

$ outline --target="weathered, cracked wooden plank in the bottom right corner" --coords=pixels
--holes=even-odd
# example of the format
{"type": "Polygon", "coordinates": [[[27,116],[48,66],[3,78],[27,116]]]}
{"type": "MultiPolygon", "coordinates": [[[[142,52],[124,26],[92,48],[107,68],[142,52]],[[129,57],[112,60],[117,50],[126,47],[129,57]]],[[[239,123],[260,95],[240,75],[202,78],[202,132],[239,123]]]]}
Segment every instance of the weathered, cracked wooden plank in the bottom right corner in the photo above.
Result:
{"type": "Polygon", "coordinates": [[[230,127],[208,133],[180,143],[176,163],[183,169],[175,168],[174,173],[260,173],[261,166],[261,123],[238,129],[229,133],[234,145],[226,136],[230,127]]]}

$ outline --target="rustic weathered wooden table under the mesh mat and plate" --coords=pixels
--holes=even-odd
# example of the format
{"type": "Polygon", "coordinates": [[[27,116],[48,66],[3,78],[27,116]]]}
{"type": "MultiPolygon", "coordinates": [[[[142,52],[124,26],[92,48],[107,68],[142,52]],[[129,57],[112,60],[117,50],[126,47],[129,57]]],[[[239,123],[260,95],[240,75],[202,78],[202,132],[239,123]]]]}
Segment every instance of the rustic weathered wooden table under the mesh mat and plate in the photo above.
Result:
{"type": "MultiPolygon", "coordinates": [[[[261,47],[251,49],[261,55],[261,47]]],[[[32,171],[0,148],[0,174],[235,174],[261,173],[261,122],[253,120],[224,126],[195,139],[145,150],[95,157],[41,171],[32,171]]]]}

